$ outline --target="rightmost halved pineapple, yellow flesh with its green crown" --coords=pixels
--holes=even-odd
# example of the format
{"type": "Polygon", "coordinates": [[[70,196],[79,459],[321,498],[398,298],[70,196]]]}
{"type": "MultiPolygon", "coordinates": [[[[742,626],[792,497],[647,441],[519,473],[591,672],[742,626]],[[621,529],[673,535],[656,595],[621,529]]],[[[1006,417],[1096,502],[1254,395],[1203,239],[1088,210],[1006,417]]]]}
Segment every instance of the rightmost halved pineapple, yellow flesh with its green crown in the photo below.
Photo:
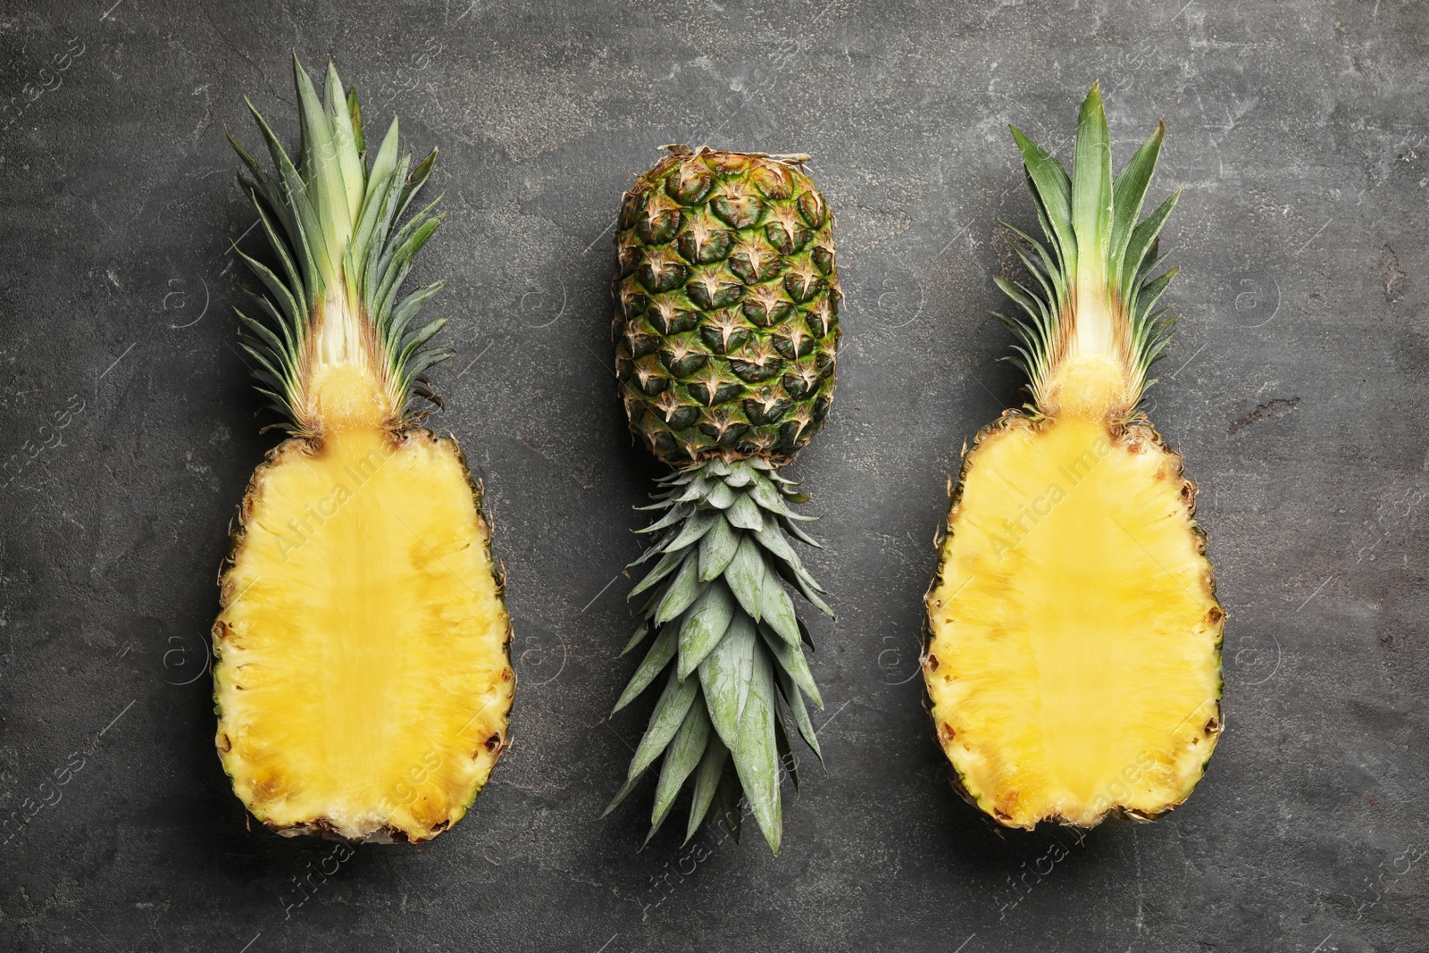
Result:
{"type": "MultiPolygon", "coordinates": [[[[1220,733],[1220,643],[1196,487],[1145,414],[1146,371],[1175,319],[1152,277],[1179,196],[1137,224],[1165,123],[1112,177],[1096,86],[1076,157],[1016,129],[1046,244],[1017,231],[1033,287],[1015,363],[1035,406],[965,451],[923,674],[955,786],[1007,827],[1150,820],[1180,804],[1220,733]]],[[[1015,230],[1016,231],[1016,230],[1015,230]]]]}

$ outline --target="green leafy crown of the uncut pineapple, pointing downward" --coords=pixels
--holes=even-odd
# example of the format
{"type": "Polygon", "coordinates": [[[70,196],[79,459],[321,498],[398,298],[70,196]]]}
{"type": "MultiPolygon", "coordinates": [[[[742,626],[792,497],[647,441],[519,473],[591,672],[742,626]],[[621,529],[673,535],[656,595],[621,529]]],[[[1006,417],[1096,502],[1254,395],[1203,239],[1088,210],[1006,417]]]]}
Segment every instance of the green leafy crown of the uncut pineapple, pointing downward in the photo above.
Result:
{"type": "MultiPolygon", "coordinates": [[[[809,574],[789,537],[817,546],[790,504],[805,500],[765,459],[707,460],[660,482],[652,510],[664,513],[644,533],[657,542],[633,566],[654,560],[630,597],[647,594],[630,652],[653,643],[614,710],[663,684],[626,782],[606,813],[634,790],[663,756],[650,836],[692,780],[686,840],[706,819],[736,833],[747,804],[777,854],[783,830],[780,782],[797,786],[786,716],[819,756],[807,696],[823,707],[803,646],[807,630],[785,583],[820,612],[825,589],[809,574]]],[[[649,837],[646,837],[649,842],[649,837]]]]}

